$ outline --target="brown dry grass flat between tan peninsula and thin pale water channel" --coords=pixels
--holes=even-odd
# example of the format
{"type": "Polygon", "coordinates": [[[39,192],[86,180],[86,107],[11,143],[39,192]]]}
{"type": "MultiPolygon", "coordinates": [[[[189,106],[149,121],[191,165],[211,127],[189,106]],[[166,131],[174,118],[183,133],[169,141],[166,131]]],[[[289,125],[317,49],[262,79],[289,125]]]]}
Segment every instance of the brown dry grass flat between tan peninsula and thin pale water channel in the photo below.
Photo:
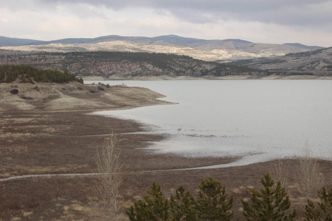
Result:
{"type": "MultiPolygon", "coordinates": [[[[0,137],[0,177],[36,173],[84,173],[96,171],[95,153],[107,136],[99,134],[143,131],[132,121],[86,115],[86,112],[0,112],[6,119],[0,137]],[[34,125],[34,126],[32,126],[34,125]],[[40,129],[38,129],[40,128],[40,129]],[[46,133],[45,129],[49,132],[46,133]],[[14,136],[15,134],[29,134],[14,136]]],[[[171,169],[228,163],[229,158],[182,158],[154,155],[142,148],[162,136],[118,134],[123,171],[171,169]]]]}

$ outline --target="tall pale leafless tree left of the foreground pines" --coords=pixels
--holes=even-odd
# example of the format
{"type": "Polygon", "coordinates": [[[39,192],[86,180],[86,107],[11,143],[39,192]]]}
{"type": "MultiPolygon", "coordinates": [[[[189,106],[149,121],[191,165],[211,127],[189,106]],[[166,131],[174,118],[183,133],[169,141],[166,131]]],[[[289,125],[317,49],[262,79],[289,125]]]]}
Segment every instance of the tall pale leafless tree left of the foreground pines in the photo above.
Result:
{"type": "Polygon", "coordinates": [[[119,160],[120,151],[115,149],[115,135],[111,136],[97,149],[95,157],[98,176],[97,192],[104,201],[111,217],[111,221],[117,221],[121,213],[119,205],[119,188],[122,184],[120,174],[121,163],[119,160]]]}

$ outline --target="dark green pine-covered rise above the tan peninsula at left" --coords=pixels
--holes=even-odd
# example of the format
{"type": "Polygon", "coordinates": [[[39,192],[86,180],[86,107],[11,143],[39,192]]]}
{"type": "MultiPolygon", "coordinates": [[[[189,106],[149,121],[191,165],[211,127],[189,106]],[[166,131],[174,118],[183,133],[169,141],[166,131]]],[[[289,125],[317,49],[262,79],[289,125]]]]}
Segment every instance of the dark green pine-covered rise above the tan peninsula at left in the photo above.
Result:
{"type": "Polygon", "coordinates": [[[38,69],[29,65],[0,65],[0,83],[13,82],[55,82],[63,83],[69,81],[78,81],[83,83],[81,78],[77,78],[74,74],[51,69],[38,69]]]}

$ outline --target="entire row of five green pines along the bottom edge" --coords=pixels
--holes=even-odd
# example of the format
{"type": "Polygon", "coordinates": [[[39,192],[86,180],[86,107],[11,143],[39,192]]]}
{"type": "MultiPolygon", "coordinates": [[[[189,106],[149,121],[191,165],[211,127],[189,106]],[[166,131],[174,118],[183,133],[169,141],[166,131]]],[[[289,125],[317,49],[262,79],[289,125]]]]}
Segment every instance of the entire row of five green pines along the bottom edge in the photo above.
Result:
{"type": "MultiPolygon", "coordinates": [[[[251,188],[251,198],[242,199],[246,221],[295,221],[296,209],[281,182],[267,173],[260,189],[251,188]]],[[[180,186],[170,199],[163,196],[161,187],[153,183],[148,195],[135,202],[126,214],[130,221],[231,221],[234,199],[227,197],[225,187],[212,178],[202,179],[198,198],[180,186]]],[[[319,202],[308,199],[306,221],[332,221],[332,188],[318,191],[319,202]]]]}

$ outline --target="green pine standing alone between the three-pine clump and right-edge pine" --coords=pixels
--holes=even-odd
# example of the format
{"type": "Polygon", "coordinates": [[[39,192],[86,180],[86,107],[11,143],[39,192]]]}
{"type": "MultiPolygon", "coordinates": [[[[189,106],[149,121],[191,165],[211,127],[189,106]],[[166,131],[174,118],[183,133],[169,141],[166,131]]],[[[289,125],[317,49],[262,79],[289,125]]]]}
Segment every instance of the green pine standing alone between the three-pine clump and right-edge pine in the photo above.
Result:
{"type": "Polygon", "coordinates": [[[280,181],[275,182],[269,174],[265,174],[261,183],[264,188],[259,191],[250,189],[251,203],[241,200],[243,215],[247,221],[294,221],[296,210],[287,213],[290,208],[290,200],[281,186],[280,181]]]}

